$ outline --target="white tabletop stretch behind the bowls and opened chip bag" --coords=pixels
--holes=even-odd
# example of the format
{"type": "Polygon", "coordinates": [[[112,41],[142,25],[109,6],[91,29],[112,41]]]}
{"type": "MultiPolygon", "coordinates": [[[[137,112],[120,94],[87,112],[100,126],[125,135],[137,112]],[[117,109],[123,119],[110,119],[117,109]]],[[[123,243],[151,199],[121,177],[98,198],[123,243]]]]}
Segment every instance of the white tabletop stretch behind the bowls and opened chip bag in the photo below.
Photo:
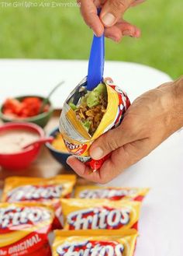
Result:
{"type": "MultiPolygon", "coordinates": [[[[0,103],[7,96],[47,96],[58,82],[64,80],[65,84],[51,98],[54,107],[60,108],[71,89],[87,75],[87,69],[87,61],[0,60],[0,103]]],[[[105,76],[112,77],[116,85],[123,87],[131,100],[171,79],[157,69],[118,61],[106,61],[105,76]]]]}

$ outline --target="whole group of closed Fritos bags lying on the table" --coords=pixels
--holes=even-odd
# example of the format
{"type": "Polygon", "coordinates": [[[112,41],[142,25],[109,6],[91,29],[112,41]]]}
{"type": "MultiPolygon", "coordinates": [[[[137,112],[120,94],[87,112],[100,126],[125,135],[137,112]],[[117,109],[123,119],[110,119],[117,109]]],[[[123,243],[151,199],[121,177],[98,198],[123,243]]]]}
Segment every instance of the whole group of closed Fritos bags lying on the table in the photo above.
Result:
{"type": "Polygon", "coordinates": [[[75,182],[74,175],[7,178],[0,203],[0,255],[134,256],[148,189],[87,185],[73,191],[75,182]]]}

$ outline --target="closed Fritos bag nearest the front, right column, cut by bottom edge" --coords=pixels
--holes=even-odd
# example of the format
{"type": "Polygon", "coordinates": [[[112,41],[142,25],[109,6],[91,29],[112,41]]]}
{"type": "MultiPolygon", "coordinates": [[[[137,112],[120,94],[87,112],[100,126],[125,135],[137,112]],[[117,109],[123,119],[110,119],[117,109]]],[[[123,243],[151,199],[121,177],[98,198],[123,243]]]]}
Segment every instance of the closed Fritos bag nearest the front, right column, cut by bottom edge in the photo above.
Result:
{"type": "Polygon", "coordinates": [[[55,231],[53,256],[133,256],[136,231],[55,231]]]}

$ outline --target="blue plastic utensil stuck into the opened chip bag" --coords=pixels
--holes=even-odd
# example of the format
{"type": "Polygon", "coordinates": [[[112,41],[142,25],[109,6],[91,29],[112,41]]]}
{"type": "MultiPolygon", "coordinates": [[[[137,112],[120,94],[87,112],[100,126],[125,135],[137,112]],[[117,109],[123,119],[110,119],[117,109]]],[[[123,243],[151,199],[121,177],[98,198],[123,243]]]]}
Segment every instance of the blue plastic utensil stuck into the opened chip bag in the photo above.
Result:
{"type": "MultiPolygon", "coordinates": [[[[99,14],[100,10],[98,10],[99,14]]],[[[98,83],[102,82],[104,73],[104,59],[105,59],[105,37],[96,37],[94,35],[91,44],[91,52],[88,63],[88,79],[87,89],[91,91],[98,83]]]]}

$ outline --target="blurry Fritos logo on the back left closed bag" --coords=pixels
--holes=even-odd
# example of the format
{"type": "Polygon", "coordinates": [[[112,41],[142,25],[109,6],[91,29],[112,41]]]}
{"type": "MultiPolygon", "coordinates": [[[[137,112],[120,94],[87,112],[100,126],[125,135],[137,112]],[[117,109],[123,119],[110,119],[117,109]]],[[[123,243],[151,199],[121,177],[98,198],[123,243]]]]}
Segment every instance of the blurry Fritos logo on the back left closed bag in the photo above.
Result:
{"type": "Polygon", "coordinates": [[[33,186],[26,185],[15,188],[7,194],[7,202],[21,202],[60,198],[63,185],[33,186]]]}

